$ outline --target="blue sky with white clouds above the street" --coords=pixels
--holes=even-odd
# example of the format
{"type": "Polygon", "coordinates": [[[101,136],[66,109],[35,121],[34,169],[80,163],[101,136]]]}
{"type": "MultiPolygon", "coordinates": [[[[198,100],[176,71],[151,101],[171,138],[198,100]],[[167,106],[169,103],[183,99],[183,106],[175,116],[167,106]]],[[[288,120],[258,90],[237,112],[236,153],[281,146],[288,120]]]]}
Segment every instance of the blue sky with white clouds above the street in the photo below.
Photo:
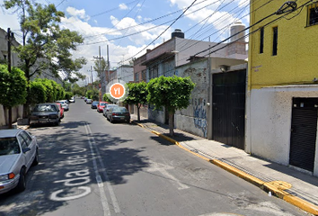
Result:
{"type": "MultiPolygon", "coordinates": [[[[106,46],[110,47],[110,67],[118,67],[123,61],[145,54],[171,38],[174,29],[185,32],[185,38],[193,40],[220,41],[229,36],[229,25],[236,21],[249,24],[248,0],[197,0],[176,21],[182,10],[194,0],[39,0],[41,4],[56,4],[66,17],[60,25],[84,36],[84,44],[78,46],[75,57],[87,58],[81,72],[87,76],[93,66],[93,56],[106,58],[106,46]],[[168,28],[169,27],[169,28],[168,28]],[[167,29],[168,28],[168,29],[167,29]],[[167,29],[167,31],[165,31],[167,29]],[[163,35],[158,39],[163,31],[163,35]],[[153,40],[155,40],[153,42],[153,40]],[[150,44],[150,45],[149,45],[150,44]],[[148,46],[149,45],[149,46],[148,46]],[[147,47],[148,46],[148,47],[147,47]],[[144,50],[143,50],[144,49],[144,50]],[[139,54],[137,54],[139,53],[139,54]]],[[[4,3],[0,0],[0,4],[4,3]]],[[[0,9],[0,28],[10,27],[19,40],[17,14],[0,9]]],[[[93,73],[93,79],[96,73],[93,73]]]]}

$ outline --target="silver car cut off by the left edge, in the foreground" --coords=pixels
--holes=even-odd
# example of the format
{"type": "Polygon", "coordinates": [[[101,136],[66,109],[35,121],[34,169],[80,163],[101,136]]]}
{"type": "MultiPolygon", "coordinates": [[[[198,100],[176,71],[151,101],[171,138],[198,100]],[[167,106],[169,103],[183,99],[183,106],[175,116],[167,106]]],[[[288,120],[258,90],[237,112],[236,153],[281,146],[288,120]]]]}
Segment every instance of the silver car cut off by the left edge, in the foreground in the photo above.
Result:
{"type": "Polygon", "coordinates": [[[26,130],[0,130],[0,193],[25,190],[25,175],[39,163],[37,139],[26,130]]]}

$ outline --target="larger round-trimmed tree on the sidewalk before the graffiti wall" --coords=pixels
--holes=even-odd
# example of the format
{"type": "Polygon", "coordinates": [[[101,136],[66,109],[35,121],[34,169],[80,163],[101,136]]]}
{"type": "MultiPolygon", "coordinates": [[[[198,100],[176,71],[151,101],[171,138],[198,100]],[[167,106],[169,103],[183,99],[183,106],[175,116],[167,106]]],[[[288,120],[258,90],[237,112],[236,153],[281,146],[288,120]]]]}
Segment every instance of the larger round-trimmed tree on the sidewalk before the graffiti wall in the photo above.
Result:
{"type": "Polygon", "coordinates": [[[173,136],[173,115],[177,110],[185,109],[190,103],[190,94],[195,84],[190,77],[159,76],[151,79],[147,85],[148,103],[155,109],[165,107],[169,112],[169,131],[173,136]]]}

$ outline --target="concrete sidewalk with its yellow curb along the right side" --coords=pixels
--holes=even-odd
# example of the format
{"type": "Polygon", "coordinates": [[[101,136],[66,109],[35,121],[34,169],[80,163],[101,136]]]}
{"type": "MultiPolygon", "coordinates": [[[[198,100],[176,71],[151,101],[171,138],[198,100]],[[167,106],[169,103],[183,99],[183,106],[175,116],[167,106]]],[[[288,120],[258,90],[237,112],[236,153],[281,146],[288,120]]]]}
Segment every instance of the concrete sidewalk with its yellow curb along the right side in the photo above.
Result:
{"type": "Polygon", "coordinates": [[[175,136],[169,137],[168,125],[141,118],[131,119],[140,127],[167,139],[180,148],[189,151],[208,162],[220,166],[228,172],[259,186],[267,193],[278,196],[297,207],[318,215],[318,178],[306,175],[288,166],[252,157],[239,148],[233,148],[214,140],[203,139],[190,133],[174,130],[175,136]]]}

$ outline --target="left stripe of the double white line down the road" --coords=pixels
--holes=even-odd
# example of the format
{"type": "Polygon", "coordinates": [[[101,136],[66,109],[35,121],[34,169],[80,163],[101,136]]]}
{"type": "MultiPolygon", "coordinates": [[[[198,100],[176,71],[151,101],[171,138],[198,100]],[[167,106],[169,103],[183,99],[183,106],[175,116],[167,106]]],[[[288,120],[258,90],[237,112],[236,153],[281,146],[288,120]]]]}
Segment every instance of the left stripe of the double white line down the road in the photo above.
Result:
{"type": "MultiPolygon", "coordinates": [[[[90,133],[88,129],[89,129],[89,126],[87,124],[85,124],[85,130],[86,130],[87,135],[91,135],[92,133],[90,133]]],[[[96,180],[100,179],[102,181],[101,175],[99,175],[99,173],[98,173],[96,156],[95,156],[95,153],[93,151],[92,141],[88,136],[87,136],[87,139],[88,139],[88,143],[89,143],[90,148],[91,148],[91,153],[92,153],[92,158],[93,158],[93,168],[95,171],[96,180]]],[[[100,194],[101,194],[102,210],[104,211],[104,216],[110,216],[110,206],[108,205],[108,201],[107,201],[107,197],[106,197],[106,193],[104,191],[104,188],[100,186],[99,180],[97,180],[97,184],[99,185],[98,188],[99,188],[100,194]]]]}

